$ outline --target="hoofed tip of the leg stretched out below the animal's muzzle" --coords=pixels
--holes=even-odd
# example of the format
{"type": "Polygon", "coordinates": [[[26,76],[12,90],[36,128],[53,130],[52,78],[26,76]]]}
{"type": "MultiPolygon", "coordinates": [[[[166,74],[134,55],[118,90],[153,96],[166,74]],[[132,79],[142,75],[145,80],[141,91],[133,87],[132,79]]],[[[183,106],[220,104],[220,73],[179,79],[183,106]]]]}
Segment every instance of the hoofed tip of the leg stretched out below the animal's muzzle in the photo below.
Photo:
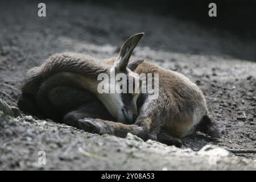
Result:
{"type": "Polygon", "coordinates": [[[97,133],[101,135],[110,133],[108,126],[104,122],[97,121],[96,119],[80,119],[79,126],[89,133],[97,133]]]}

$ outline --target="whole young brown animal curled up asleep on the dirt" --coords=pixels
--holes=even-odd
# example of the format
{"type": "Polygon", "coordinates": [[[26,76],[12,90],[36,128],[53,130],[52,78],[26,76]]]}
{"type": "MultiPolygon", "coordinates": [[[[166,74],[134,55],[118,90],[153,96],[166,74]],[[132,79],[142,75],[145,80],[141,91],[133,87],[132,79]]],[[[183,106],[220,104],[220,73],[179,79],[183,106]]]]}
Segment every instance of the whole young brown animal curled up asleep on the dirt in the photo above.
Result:
{"type": "Polygon", "coordinates": [[[129,62],[142,37],[142,33],[131,36],[112,59],[77,53],[49,57],[42,66],[28,71],[18,106],[32,114],[40,110],[50,118],[65,115],[68,125],[118,137],[132,133],[167,144],[180,141],[166,134],[180,138],[201,131],[219,137],[216,123],[208,117],[203,93],[187,77],[141,59],[129,62]],[[158,73],[159,97],[150,100],[150,93],[98,94],[97,76],[113,71],[134,79],[140,79],[140,73],[158,73]]]}

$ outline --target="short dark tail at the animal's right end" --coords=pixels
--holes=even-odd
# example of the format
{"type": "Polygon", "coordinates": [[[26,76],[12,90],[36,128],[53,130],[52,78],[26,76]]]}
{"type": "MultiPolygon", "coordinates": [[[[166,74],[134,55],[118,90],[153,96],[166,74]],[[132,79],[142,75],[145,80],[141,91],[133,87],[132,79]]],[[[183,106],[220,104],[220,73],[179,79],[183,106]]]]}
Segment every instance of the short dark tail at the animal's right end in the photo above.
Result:
{"type": "Polygon", "coordinates": [[[218,126],[208,117],[208,115],[204,115],[200,120],[199,125],[197,125],[197,131],[214,138],[220,138],[221,136],[218,126]]]}

